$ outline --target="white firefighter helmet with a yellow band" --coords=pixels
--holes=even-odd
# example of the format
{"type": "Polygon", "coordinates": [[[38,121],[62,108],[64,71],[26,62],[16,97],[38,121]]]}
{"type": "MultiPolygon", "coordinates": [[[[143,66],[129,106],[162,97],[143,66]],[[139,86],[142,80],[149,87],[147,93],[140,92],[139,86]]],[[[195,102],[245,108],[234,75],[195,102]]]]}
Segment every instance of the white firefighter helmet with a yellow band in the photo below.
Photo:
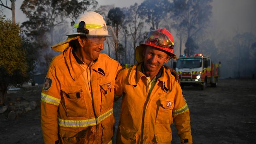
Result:
{"type": "Polygon", "coordinates": [[[87,36],[111,36],[103,17],[93,11],[87,11],[80,15],[73,26],[71,35],[87,36]]]}

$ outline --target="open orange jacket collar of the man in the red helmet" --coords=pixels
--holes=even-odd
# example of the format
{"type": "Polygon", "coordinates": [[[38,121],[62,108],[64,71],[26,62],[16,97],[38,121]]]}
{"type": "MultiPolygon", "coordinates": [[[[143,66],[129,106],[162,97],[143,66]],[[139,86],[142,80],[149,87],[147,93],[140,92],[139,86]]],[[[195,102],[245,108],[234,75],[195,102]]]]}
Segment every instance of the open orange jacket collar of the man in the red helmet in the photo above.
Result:
{"type": "MultiPolygon", "coordinates": [[[[128,83],[130,85],[137,85],[137,83],[141,80],[141,77],[146,77],[142,71],[142,63],[136,63],[130,70],[128,76],[128,83]]],[[[158,81],[162,83],[162,88],[165,92],[171,92],[172,90],[172,82],[173,78],[171,77],[171,72],[168,69],[165,69],[163,66],[161,68],[161,76],[158,78],[158,81]]]]}

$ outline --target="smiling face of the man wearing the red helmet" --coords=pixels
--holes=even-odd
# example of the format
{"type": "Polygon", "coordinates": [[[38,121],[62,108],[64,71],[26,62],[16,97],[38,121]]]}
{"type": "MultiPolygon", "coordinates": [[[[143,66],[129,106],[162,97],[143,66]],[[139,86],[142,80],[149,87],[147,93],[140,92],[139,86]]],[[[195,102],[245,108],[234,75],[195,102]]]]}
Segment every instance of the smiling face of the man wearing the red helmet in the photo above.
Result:
{"type": "Polygon", "coordinates": [[[159,71],[163,63],[167,63],[169,56],[152,46],[146,46],[144,52],[144,66],[145,70],[149,72],[159,71]]]}

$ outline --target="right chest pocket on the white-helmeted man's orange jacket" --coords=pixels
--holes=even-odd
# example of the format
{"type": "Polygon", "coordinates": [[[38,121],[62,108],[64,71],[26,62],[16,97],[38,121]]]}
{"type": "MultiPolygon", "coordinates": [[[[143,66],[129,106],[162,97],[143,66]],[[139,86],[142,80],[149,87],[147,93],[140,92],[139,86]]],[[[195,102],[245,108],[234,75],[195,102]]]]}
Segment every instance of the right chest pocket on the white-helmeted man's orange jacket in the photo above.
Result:
{"type": "Polygon", "coordinates": [[[114,85],[112,81],[100,83],[101,104],[100,109],[104,111],[113,107],[114,102],[114,85]]]}

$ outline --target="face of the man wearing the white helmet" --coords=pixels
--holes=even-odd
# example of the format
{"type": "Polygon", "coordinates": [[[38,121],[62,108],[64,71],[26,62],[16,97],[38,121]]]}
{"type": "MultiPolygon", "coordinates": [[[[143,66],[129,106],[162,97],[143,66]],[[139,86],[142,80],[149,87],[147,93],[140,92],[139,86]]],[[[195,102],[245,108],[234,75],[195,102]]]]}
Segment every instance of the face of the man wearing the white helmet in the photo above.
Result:
{"type": "Polygon", "coordinates": [[[88,60],[95,60],[99,57],[101,50],[104,49],[105,37],[89,37],[85,39],[84,51],[88,60]]]}

